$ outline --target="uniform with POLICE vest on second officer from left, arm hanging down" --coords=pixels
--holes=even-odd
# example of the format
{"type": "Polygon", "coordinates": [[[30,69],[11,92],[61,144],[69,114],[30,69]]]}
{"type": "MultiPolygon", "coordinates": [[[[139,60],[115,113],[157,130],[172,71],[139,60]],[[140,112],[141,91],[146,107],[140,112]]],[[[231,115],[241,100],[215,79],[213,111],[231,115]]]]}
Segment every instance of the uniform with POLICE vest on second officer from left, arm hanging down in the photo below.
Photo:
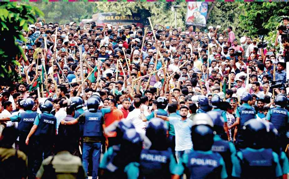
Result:
{"type": "Polygon", "coordinates": [[[49,113],[37,114],[34,120],[34,125],[37,125],[37,129],[34,133],[35,137],[35,161],[34,161],[34,174],[41,166],[43,158],[47,158],[52,155],[53,144],[56,135],[56,117],[49,113]],[[44,153],[44,155],[43,155],[44,153]]]}

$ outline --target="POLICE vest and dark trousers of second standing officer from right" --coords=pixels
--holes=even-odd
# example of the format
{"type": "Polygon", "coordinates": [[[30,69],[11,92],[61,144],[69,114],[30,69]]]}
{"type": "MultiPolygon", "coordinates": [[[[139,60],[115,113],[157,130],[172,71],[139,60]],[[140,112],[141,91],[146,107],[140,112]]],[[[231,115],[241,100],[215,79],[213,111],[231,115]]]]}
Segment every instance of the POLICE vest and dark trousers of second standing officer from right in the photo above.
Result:
{"type": "Polygon", "coordinates": [[[256,118],[256,111],[254,107],[250,106],[248,103],[243,103],[236,110],[236,117],[240,117],[240,124],[237,125],[238,132],[236,137],[236,147],[237,148],[244,148],[244,129],[243,126],[245,122],[250,119],[256,118]]]}

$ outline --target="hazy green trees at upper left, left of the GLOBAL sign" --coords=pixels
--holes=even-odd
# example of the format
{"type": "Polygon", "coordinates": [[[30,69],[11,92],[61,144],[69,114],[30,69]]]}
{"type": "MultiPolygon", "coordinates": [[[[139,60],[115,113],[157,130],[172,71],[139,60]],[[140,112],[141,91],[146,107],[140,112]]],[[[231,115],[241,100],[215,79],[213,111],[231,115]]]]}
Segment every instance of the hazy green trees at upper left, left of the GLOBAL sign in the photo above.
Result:
{"type": "Polygon", "coordinates": [[[95,13],[94,2],[27,2],[27,4],[43,11],[44,16],[40,17],[44,17],[46,23],[80,22],[81,19],[91,18],[95,13]]]}

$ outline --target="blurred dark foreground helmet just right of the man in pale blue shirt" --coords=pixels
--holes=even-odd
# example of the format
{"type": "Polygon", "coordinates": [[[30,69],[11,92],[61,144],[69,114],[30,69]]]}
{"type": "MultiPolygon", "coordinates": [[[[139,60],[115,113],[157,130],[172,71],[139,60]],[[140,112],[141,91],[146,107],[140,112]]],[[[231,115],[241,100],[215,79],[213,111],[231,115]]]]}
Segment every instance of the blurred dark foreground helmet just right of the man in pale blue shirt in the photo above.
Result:
{"type": "Polygon", "coordinates": [[[207,125],[197,125],[192,130],[193,148],[195,151],[209,151],[214,143],[213,130],[207,125]]]}

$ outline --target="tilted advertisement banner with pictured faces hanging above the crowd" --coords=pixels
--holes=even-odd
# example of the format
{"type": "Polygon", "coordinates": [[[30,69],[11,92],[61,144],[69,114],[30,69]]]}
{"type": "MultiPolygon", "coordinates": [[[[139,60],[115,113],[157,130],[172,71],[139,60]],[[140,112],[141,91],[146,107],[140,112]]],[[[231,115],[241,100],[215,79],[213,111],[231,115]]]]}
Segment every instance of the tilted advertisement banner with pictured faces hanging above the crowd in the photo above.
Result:
{"type": "Polygon", "coordinates": [[[208,2],[188,2],[186,24],[206,26],[208,2]]]}

